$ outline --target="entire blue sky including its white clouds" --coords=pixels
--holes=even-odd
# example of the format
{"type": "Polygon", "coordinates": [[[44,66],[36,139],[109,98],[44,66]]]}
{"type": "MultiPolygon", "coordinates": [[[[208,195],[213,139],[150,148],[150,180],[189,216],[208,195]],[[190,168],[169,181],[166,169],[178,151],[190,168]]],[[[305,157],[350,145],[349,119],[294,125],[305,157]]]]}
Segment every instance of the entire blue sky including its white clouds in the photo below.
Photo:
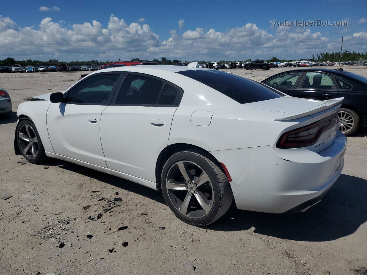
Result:
{"type": "Polygon", "coordinates": [[[1,1],[0,59],[246,60],[367,51],[366,0],[1,1]],[[274,26],[276,20],[348,26],[274,26]]]}

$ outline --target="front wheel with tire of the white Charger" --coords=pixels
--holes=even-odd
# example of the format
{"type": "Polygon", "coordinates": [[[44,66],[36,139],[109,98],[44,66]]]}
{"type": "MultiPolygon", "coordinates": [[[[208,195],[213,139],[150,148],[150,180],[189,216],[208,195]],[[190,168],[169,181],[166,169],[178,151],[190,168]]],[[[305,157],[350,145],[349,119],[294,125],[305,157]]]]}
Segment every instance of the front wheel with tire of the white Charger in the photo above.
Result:
{"type": "Polygon", "coordinates": [[[46,159],[36,125],[30,120],[21,120],[17,127],[17,143],[23,157],[33,164],[38,164],[46,159]]]}

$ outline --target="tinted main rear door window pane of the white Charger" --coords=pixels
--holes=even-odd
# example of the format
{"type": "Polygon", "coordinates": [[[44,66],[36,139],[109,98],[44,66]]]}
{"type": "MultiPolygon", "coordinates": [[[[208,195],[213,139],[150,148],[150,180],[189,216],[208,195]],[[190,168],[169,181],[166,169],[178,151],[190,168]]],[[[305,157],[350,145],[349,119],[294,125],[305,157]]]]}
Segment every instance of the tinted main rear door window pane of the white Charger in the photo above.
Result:
{"type": "Polygon", "coordinates": [[[121,87],[117,104],[157,104],[163,82],[144,76],[128,75],[121,87]]]}

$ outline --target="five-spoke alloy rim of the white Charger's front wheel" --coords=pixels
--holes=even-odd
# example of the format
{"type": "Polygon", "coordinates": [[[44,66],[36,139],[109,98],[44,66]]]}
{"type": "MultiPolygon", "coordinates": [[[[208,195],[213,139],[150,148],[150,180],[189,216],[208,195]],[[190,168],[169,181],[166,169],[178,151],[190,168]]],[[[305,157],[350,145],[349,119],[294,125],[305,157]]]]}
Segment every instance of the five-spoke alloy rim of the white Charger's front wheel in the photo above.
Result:
{"type": "Polygon", "coordinates": [[[19,147],[28,159],[34,159],[38,154],[38,139],[36,132],[27,124],[19,129],[19,147]]]}

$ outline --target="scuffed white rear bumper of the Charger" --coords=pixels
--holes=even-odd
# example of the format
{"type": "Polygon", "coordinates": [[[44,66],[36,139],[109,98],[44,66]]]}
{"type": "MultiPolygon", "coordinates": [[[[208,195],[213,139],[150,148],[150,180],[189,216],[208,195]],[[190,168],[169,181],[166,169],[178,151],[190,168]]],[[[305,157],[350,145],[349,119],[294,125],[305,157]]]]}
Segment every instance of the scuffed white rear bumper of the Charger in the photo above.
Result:
{"type": "Polygon", "coordinates": [[[284,213],[317,202],[316,198],[333,186],[344,166],[345,146],[346,137],[338,131],[334,143],[318,153],[299,148],[293,157],[285,157],[286,150],[292,149],[275,146],[211,153],[232,177],[237,208],[284,213]]]}

